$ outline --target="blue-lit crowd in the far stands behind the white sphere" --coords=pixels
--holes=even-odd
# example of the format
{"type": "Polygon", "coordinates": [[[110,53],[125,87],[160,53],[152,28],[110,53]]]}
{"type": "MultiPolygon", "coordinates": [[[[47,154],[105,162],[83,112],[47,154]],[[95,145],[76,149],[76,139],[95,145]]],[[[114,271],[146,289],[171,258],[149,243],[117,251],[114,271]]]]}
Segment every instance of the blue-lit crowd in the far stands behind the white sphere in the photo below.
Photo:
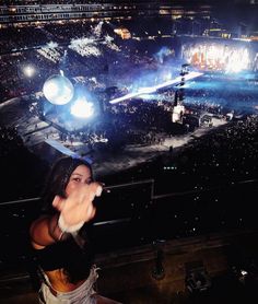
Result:
{"type": "MultiPolygon", "coordinates": [[[[141,36],[141,28],[146,33],[151,28],[159,33],[159,28],[153,27],[150,21],[141,23],[142,26],[133,30],[133,22],[125,22],[126,26],[131,26],[130,31],[136,36],[141,36]]],[[[181,40],[178,37],[139,40],[132,35],[131,39],[122,39],[114,32],[119,22],[73,22],[1,28],[0,102],[40,91],[44,81],[60,70],[64,70],[69,78],[97,75],[104,86],[116,85],[120,74],[124,74],[125,85],[130,86],[137,79],[139,85],[144,86],[145,83],[141,82],[146,72],[153,74],[152,82],[156,81],[156,71],[167,77],[169,67],[174,66],[174,73],[178,72],[176,67],[181,56],[181,40]],[[92,43],[85,43],[77,49],[73,45],[77,39],[92,43]],[[21,68],[25,65],[35,67],[35,77],[27,79],[23,74],[21,68]]],[[[164,24],[159,26],[166,28],[164,24]]],[[[189,44],[186,40],[186,45],[189,44]]]]}

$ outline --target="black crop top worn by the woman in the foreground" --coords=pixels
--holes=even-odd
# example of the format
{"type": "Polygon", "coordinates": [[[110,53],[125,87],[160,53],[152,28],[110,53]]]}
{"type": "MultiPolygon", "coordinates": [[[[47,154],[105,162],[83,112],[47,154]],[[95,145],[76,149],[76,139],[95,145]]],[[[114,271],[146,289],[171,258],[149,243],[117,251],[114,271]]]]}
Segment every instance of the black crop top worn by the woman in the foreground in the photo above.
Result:
{"type": "Polygon", "coordinates": [[[86,279],[90,274],[92,250],[90,246],[80,247],[72,236],[43,249],[35,249],[35,254],[38,266],[43,270],[51,271],[62,268],[71,283],[86,279]]]}

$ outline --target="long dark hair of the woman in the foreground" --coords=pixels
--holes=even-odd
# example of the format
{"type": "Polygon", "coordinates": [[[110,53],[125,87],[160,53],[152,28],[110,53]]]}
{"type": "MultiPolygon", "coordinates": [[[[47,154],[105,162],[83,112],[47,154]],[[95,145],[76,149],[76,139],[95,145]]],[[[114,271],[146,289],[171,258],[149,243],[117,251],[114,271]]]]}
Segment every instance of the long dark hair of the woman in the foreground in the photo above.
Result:
{"type": "Polygon", "coordinates": [[[51,167],[43,190],[43,209],[44,213],[55,214],[57,211],[52,207],[55,196],[66,197],[66,187],[72,172],[80,165],[85,165],[91,171],[90,163],[84,159],[63,156],[59,159],[51,167]]]}

